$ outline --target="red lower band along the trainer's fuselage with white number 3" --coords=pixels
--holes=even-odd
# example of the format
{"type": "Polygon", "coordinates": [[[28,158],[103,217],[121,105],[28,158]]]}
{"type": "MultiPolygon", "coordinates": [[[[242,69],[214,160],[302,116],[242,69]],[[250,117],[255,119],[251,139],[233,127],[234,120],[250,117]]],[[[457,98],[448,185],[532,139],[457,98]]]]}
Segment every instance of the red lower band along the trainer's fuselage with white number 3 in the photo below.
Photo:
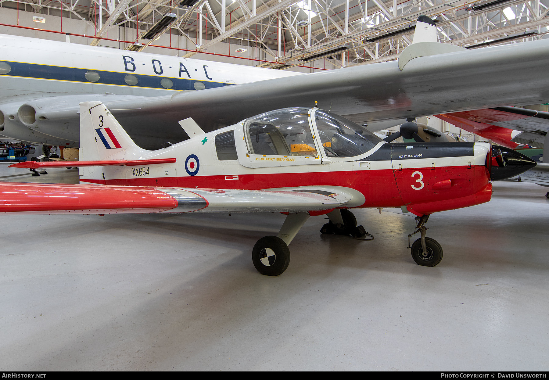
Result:
{"type": "MultiPolygon", "coordinates": [[[[360,207],[400,207],[402,205],[442,202],[452,199],[452,209],[458,198],[483,191],[489,183],[485,166],[444,166],[402,170],[326,171],[278,174],[238,174],[238,180],[226,180],[225,173],[217,176],[185,176],[156,178],[125,178],[117,180],[85,180],[92,183],[126,186],[166,186],[217,189],[272,189],[299,186],[342,186],[360,191],[366,202],[360,207]],[[421,178],[418,174],[421,172],[421,178]],[[440,190],[433,185],[451,180],[452,186],[440,190]]],[[[234,174],[237,175],[237,174],[234,174]]],[[[483,202],[486,202],[485,200],[483,202]]],[[[481,202],[479,202],[481,203],[481,202]]],[[[471,205],[471,204],[467,204],[471,205]]],[[[444,205],[439,203],[439,208],[444,205]]],[[[441,211],[439,210],[439,211],[441,211]]],[[[434,212],[434,211],[433,211],[434,212]]]]}

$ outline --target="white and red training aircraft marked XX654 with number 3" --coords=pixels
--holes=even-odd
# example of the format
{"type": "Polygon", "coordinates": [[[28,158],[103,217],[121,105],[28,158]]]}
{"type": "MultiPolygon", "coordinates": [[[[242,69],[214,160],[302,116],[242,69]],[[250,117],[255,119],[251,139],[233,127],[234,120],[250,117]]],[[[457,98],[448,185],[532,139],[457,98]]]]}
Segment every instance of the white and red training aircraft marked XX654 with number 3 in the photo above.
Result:
{"type": "MultiPolygon", "coordinates": [[[[80,166],[81,183],[2,182],[1,210],[9,214],[281,212],[288,216],[278,236],[261,238],[252,252],[260,273],[277,276],[288,267],[288,245],[309,216],[329,217],[323,233],[360,236],[363,232],[350,208],[401,207],[417,215],[416,232],[421,232],[411,247],[413,259],[419,265],[435,266],[442,259],[442,248],[425,237],[429,215],[488,202],[490,178],[495,176],[492,165],[498,167],[500,178],[535,165],[526,157],[497,153],[492,158],[488,143],[389,144],[318,108],[279,109],[210,133],[192,119],[180,124],[191,139],[144,150],[103,103],[81,103],[81,161],[71,161],[80,166]]],[[[403,125],[395,135],[413,135],[413,126],[410,130],[410,123],[406,125],[408,129],[403,125]]],[[[66,165],[66,161],[30,161],[12,166],[66,165]]]]}

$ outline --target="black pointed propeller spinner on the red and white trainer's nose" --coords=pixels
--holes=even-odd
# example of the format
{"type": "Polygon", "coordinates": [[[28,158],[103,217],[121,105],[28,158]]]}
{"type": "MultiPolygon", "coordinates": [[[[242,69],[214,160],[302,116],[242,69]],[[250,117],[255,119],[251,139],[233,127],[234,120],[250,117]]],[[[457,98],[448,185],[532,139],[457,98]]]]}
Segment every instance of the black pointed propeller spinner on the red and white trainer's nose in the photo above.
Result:
{"type": "Polygon", "coordinates": [[[492,181],[506,180],[536,166],[536,161],[511,148],[492,146],[492,181]]]}

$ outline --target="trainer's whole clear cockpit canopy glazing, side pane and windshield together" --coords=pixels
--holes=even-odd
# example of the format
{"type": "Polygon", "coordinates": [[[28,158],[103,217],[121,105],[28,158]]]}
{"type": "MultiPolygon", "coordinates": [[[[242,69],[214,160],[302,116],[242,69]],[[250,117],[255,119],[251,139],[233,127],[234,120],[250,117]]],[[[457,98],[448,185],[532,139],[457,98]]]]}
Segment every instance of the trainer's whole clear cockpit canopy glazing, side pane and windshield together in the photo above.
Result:
{"type": "Polygon", "coordinates": [[[360,125],[317,108],[284,108],[244,121],[250,154],[261,155],[318,155],[313,137],[315,127],[320,137],[319,146],[328,157],[354,157],[382,141],[360,125]]]}

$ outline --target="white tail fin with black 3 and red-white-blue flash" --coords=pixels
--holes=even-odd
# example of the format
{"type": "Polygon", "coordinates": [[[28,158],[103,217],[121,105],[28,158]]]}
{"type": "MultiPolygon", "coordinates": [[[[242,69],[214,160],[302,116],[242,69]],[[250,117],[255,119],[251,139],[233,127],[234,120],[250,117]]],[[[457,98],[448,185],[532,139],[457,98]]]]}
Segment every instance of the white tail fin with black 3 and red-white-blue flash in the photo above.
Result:
{"type": "Polygon", "coordinates": [[[135,157],[142,152],[101,102],[80,103],[80,160],[135,157]]]}

